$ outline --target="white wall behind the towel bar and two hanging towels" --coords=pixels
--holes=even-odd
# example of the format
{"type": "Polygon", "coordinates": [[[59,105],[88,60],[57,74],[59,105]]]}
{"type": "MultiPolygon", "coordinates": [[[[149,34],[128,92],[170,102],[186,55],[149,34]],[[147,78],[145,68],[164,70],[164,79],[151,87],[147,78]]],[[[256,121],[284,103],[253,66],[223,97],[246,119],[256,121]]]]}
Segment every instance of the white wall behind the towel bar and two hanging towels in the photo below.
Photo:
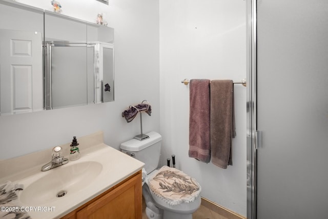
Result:
{"type": "Polygon", "coordinates": [[[247,215],[246,88],[234,87],[233,166],[220,169],[188,157],[189,86],[180,83],[246,77],[245,2],[160,0],[159,15],[162,165],[175,154],[177,168],[196,178],[203,197],[247,215]]]}

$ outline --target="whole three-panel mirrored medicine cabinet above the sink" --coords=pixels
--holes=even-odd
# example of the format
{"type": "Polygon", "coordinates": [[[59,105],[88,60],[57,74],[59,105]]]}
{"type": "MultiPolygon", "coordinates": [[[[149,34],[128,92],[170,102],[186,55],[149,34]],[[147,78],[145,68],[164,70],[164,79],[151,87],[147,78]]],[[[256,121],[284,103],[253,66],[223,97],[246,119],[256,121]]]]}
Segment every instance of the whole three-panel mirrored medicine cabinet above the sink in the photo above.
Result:
{"type": "Polygon", "coordinates": [[[0,0],[0,48],[0,115],[114,101],[113,28],[0,0]]]}

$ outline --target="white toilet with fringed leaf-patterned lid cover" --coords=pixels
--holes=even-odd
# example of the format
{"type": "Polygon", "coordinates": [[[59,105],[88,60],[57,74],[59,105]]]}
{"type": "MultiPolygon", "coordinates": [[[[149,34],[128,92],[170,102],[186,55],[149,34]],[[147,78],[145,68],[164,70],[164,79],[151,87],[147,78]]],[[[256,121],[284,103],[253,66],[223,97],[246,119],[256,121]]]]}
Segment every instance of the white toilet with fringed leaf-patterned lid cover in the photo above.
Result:
{"type": "Polygon", "coordinates": [[[162,137],[147,133],[143,141],[133,138],[120,145],[121,151],[145,163],[142,169],[142,195],[151,219],[192,219],[201,202],[201,187],[182,171],[163,166],[157,169],[162,137]]]}

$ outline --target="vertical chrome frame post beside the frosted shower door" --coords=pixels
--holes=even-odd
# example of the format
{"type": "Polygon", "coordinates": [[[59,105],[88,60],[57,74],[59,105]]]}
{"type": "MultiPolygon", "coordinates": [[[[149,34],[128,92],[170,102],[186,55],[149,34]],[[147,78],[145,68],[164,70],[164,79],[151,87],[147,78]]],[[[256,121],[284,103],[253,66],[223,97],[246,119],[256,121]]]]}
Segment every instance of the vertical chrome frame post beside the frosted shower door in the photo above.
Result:
{"type": "Polygon", "coordinates": [[[256,0],[247,7],[247,218],[256,219],[256,0]]]}

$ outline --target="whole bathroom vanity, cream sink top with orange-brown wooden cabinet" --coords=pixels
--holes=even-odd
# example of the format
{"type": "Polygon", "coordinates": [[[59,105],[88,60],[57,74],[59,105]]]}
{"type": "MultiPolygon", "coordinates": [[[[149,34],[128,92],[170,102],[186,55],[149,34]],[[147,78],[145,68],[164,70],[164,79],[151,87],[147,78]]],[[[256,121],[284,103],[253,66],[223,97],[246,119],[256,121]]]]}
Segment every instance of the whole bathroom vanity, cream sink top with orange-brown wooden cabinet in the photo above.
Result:
{"type": "MultiPolygon", "coordinates": [[[[52,148],[0,161],[0,185],[23,188],[11,206],[50,209],[26,212],[33,219],[141,218],[144,163],[104,144],[103,132],[77,141],[79,160],[48,171],[52,148]]],[[[70,143],[60,147],[69,157],[70,143]]]]}

